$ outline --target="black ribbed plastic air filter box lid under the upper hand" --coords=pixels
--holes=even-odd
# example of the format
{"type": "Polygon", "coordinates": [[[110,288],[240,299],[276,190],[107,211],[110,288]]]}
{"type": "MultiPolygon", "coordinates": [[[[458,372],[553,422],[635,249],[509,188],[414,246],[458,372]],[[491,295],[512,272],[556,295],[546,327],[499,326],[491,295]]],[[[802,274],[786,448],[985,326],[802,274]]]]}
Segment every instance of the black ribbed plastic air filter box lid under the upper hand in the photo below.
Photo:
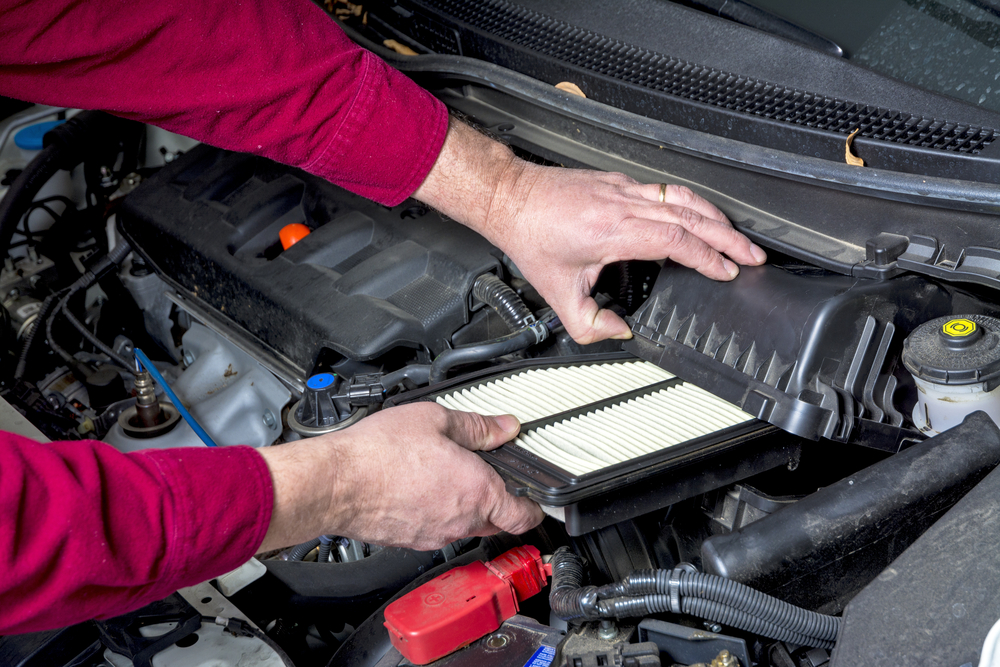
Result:
{"type": "Polygon", "coordinates": [[[791,263],[719,283],[667,263],[625,349],[790,433],[897,451],[903,339],[928,317],[982,310],[915,275],[877,281],[791,263]]]}

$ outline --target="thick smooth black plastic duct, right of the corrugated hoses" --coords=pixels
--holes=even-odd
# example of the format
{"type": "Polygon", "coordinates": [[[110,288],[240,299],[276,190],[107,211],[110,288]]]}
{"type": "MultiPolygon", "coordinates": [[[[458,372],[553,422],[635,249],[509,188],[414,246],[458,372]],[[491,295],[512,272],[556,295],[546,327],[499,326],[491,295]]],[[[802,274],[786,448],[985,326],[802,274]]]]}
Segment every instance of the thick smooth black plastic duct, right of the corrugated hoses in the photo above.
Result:
{"type": "Polygon", "coordinates": [[[872,581],[1000,464],[984,412],[702,545],[705,572],[828,613],[872,581]]]}

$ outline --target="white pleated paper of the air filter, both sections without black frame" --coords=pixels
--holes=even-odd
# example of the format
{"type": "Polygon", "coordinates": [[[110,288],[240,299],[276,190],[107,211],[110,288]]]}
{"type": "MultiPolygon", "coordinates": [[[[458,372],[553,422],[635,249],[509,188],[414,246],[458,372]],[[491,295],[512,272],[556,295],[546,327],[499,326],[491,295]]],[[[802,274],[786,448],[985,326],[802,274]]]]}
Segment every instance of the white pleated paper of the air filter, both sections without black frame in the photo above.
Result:
{"type": "Polygon", "coordinates": [[[710,436],[753,417],[645,361],[557,366],[435,398],[455,410],[513,414],[513,444],[573,476],[710,436]]]}

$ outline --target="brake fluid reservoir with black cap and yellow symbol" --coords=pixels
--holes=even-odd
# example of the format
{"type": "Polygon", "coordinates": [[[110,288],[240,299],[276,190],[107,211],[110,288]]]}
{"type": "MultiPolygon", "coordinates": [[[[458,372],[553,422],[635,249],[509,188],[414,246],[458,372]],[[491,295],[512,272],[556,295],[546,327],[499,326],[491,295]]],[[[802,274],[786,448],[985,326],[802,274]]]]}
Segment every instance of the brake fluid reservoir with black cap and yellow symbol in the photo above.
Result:
{"type": "Polygon", "coordinates": [[[913,423],[935,435],[983,410],[1000,424],[1000,319],[939,317],[903,343],[903,365],[917,384],[913,423]]]}

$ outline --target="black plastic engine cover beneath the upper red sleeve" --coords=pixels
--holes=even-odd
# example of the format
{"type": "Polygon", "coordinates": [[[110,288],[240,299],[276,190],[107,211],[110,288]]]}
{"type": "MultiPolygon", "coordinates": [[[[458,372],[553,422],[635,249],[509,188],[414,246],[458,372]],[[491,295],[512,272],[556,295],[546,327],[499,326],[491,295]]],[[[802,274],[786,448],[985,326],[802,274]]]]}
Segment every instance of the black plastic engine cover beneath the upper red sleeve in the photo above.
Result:
{"type": "Polygon", "coordinates": [[[322,348],[360,361],[437,354],[469,320],[499,250],[409,201],[379,206],[297,169],[200,146],[124,201],[120,228],[188,299],[309,370],[322,348]],[[278,232],[312,232],[282,250],[278,232]]]}

